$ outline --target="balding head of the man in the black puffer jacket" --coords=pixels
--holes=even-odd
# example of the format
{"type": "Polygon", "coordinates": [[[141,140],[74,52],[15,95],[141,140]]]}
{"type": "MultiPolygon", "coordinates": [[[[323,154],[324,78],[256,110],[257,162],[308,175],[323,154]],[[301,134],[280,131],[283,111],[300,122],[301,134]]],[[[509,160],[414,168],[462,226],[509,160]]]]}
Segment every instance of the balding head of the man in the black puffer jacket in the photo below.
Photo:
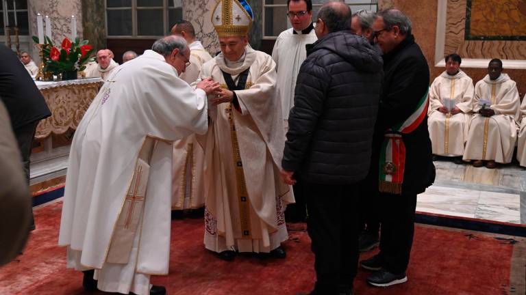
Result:
{"type": "Polygon", "coordinates": [[[351,8],[343,2],[327,2],[318,12],[318,18],[323,20],[328,33],[347,31],[351,29],[351,8]]]}

